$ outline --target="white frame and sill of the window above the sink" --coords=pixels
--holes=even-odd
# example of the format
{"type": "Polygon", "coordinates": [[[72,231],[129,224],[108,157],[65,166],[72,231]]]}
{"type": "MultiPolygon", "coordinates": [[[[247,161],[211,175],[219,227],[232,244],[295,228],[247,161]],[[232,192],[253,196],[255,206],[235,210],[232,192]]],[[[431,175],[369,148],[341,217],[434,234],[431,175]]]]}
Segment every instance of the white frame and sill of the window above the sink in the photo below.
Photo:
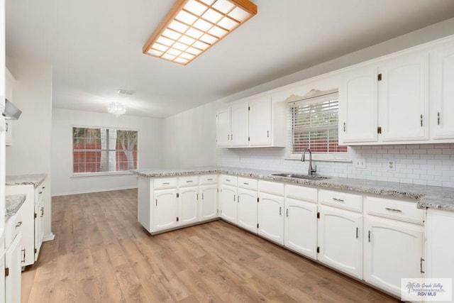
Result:
{"type": "MultiPolygon", "coordinates": [[[[321,103],[323,101],[328,100],[326,98],[323,100],[323,96],[329,96],[331,94],[338,94],[338,89],[333,89],[330,91],[315,91],[312,90],[309,92],[309,94],[306,94],[306,96],[301,97],[299,99],[292,99],[291,101],[287,101],[287,157],[285,160],[301,160],[302,152],[293,152],[293,140],[294,140],[294,132],[293,132],[293,119],[292,119],[292,104],[295,104],[297,102],[299,103],[306,103],[306,104],[317,104],[321,103]],[[314,101],[314,99],[320,99],[319,101],[314,101]]],[[[339,117],[339,110],[338,110],[338,117],[339,117]]],[[[338,128],[338,123],[336,124],[336,127],[338,128]]],[[[338,135],[339,136],[339,135],[338,135]]],[[[343,145],[341,145],[343,146],[343,145]]],[[[318,153],[318,152],[312,152],[312,160],[316,161],[329,161],[329,162],[351,162],[350,160],[350,147],[346,146],[347,151],[346,152],[338,152],[338,153],[333,153],[333,152],[328,152],[328,153],[318,153]]]]}

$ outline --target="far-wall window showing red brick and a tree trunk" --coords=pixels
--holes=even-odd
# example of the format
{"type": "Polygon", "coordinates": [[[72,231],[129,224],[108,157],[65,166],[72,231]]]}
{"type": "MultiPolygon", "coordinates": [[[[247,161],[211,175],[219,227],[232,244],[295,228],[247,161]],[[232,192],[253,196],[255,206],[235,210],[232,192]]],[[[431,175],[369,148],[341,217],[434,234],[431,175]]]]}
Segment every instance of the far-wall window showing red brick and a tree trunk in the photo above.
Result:
{"type": "Polygon", "coordinates": [[[74,173],[137,168],[138,132],[116,128],[72,128],[74,173]]]}

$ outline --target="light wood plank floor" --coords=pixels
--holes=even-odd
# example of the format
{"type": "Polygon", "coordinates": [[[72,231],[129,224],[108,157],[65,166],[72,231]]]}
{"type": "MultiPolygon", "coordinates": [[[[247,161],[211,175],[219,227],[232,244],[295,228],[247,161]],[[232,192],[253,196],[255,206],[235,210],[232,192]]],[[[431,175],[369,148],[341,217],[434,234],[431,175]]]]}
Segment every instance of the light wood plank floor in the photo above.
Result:
{"type": "Polygon", "coordinates": [[[22,302],[397,302],[223,221],[150,236],[135,189],[52,198],[22,302]]]}

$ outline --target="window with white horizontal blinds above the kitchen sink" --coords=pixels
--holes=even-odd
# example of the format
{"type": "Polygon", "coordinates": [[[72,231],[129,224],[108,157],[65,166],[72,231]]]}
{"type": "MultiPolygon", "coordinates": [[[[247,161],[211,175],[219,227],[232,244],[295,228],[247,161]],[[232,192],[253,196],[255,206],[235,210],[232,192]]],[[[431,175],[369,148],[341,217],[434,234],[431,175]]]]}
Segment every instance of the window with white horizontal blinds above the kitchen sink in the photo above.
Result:
{"type": "Polygon", "coordinates": [[[338,111],[337,92],[290,102],[290,153],[302,153],[304,148],[313,153],[347,153],[347,146],[338,145],[338,111]]]}

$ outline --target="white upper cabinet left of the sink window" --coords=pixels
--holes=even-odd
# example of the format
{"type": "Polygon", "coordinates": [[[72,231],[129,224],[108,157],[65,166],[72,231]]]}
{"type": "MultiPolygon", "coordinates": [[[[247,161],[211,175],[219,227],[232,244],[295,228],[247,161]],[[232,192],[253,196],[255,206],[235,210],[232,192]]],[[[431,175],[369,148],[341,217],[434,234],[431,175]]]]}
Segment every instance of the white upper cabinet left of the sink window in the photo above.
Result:
{"type": "Polygon", "coordinates": [[[270,95],[237,101],[216,112],[217,147],[285,147],[285,102],[272,102],[270,95]]]}

